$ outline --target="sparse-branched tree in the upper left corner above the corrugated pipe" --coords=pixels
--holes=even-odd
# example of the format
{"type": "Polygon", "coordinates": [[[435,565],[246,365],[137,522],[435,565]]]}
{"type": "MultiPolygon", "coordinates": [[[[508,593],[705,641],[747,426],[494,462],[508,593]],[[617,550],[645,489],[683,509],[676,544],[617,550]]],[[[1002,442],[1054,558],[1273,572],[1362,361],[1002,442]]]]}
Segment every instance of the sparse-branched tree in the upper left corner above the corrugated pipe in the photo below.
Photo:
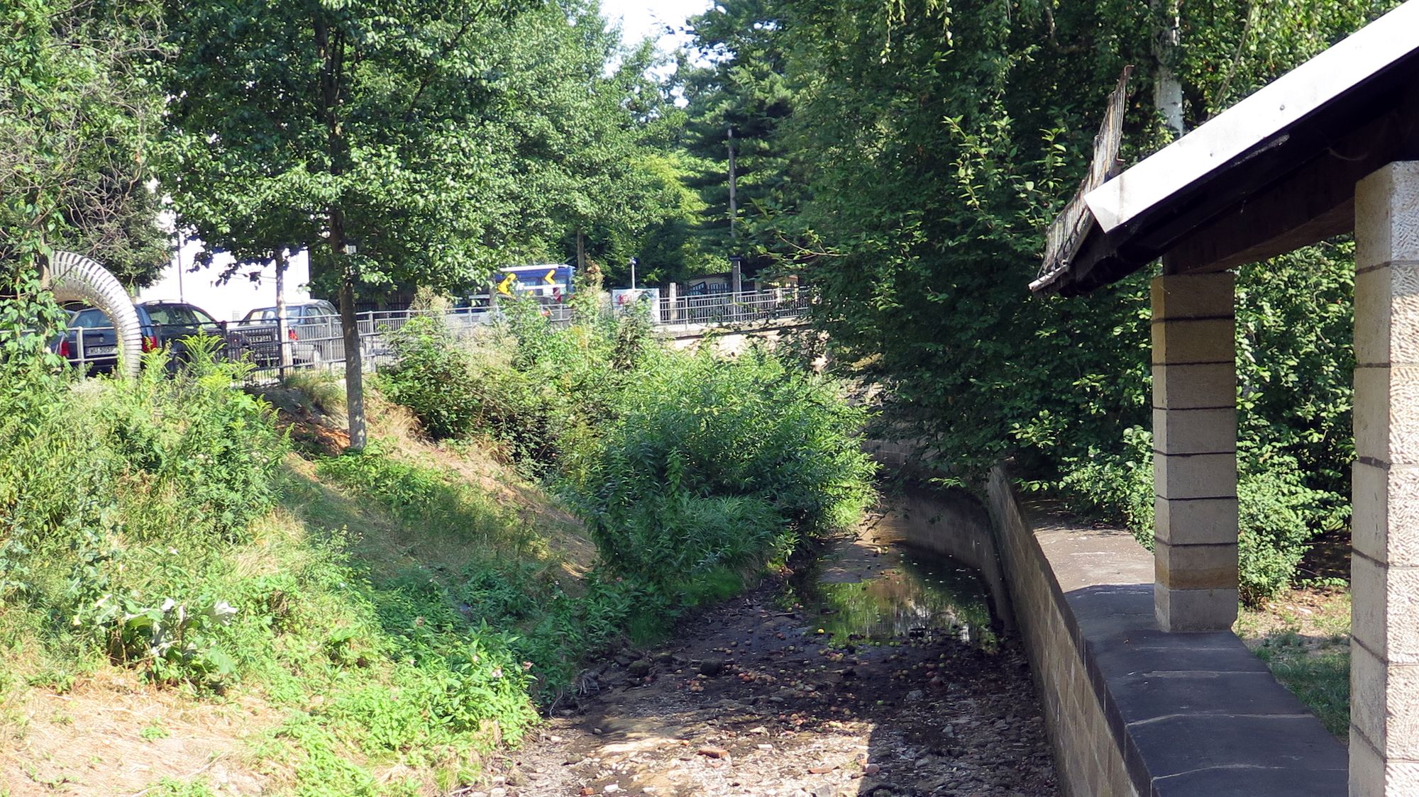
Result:
{"type": "Polygon", "coordinates": [[[0,20],[0,264],[7,295],[53,248],[87,254],[128,284],[167,261],[152,139],[162,95],[148,0],[14,0],[0,20]]]}

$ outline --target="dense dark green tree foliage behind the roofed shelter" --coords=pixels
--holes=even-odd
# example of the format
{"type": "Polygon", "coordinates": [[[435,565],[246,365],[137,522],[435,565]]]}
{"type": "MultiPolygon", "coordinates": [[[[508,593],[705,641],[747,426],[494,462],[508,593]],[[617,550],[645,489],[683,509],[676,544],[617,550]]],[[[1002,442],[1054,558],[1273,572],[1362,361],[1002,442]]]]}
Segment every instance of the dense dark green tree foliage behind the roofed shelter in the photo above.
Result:
{"type": "MultiPolygon", "coordinates": [[[[718,58],[690,129],[783,112],[759,152],[796,165],[778,169],[795,184],[749,228],[819,288],[834,362],[884,389],[883,434],[931,441],[958,481],[1009,458],[1032,486],[1147,537],[1147,274],[1088,298],[1030,296],[1044,225],[1125,64],[1132,162],[1172,135],[1151,102],[1165,68],[1195,126],[1392,6],[741,0],[697,20],[718,58]],[[1179,45],[1155,48],[1174,17],[1179,45]],[[729,24],[741,18],[761,24],[729,24]]],[[[1347,522],[1351,271],[1349,244],[1332,241],[1239,275],[1252,600],[1291,579],[1311,535],[1347,522]]]]}

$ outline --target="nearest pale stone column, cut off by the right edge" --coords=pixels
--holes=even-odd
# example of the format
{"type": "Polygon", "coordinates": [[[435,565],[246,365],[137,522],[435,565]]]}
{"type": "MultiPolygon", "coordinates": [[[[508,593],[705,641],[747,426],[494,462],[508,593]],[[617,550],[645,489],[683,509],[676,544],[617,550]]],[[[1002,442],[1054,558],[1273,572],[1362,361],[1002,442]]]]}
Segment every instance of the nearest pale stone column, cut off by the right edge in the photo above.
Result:
{"type": "Polygon", "coordinates": [[[1419,794],[1419,162],[1355,186],[1349,793],[1419,794]]]}

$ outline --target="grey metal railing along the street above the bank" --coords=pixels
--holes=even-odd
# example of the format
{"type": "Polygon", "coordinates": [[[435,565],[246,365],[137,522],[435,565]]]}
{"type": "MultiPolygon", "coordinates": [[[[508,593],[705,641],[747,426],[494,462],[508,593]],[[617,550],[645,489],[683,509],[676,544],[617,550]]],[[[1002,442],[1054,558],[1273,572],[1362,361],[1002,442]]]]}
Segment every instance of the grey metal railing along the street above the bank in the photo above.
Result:
{"type": "MultiPolygon", "coordinates": [[[[658,306],[653,308],[651,322],[658,328],[675,326],[735,326],[765,323],[773,321],[795,319],[806,315],[810,303],[807,291],[796,288],[782,288],[769,291],[745,291],[742,294],[708,294],[661,298],[658,306]]],[[[570,323],[573,309],[563,303],[548,303],[538,308],[541,315],[551,323],[570,323]]],[[[450,311],[369,311],[356,313],[359,329],[360,359],[366,369],[379,369],[382,364],[393,362],[393,352],[389,346],[389,333],[402,329],[410,319],[431,312],[443,312],[446,323],[454,336],[464,336],[480,326],[495,323],[502,318],[502,311],[487,303],[454,308],[450,311]]],[[[251,372],[253,381],[272,381],[282,373],[302,369],[341,369],[345,366],[345,336],[339,316],[316,316],[287,319],[285,340],[281,340],[278,325],[274,322],[260,323],[220,323],[217,329],[207,329],[223,340],[220,356],[233,360],[248,360],[255,367],[251,372]]],[[[169,340],[172,335],[163,335],[163,329],[148,329],[152,336],[145,338],[145,350],[159,340],[169,340]]],[[[145,335],[146,335],[145,332],[145,335]]],[[[60,343],[54,349],[65,356],[70,363],[85,373],[102,373],[114,369],[118,353],[111,328],[75,328],[64,336],[64,347],[60,343]],[[101,345],[92,345],[102,342],[101,345]]],[[[183,356],[182,340],[169,343],[173,349],[173,360],[183,356]]]]}

